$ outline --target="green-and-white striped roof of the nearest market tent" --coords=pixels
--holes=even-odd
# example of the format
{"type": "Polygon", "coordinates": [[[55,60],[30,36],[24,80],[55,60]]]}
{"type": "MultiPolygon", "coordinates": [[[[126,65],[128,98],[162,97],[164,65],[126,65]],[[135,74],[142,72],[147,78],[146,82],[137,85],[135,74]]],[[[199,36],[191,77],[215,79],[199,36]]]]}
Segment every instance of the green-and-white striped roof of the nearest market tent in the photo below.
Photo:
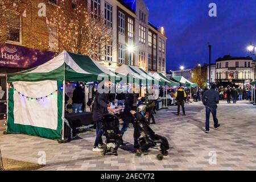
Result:
{"type": "Polygon", "coordinates": [[[89,56],[63,51],[47,63],[27,71],[7,75],[7,81],[101,81],[98,76],[115,76],[89,56]]]}

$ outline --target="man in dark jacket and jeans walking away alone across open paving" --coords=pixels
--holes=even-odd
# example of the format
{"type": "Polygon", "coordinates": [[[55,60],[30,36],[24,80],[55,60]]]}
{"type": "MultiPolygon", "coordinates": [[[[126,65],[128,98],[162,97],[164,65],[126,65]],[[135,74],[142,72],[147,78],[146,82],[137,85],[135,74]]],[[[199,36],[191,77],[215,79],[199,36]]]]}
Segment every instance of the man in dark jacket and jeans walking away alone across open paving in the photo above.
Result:
{"type": "Polygon", "coordinates": [[[218,92],[215,90],[216,85],[212,84],[210,90],[204,92],[202,97],[203,104],[205,105],[205,133],[209,133],[210,130],[210,113],[212,113],[214,121],[214,129],[217,130],[220,127],[218,124],[217,114],[217,104],[219,102],[218,92]]]}

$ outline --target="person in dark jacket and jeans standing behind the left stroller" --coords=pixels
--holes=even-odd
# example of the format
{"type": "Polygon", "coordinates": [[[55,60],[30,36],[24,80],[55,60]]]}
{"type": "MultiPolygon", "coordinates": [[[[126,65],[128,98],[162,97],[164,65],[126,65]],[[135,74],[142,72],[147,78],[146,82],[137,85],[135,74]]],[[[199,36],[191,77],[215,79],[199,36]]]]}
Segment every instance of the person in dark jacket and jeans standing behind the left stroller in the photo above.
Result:
{"type": "Polygon", "coordinates": [[[108,94],[96,92],[94,106],[93,106],[93,121],[96,122],[96,139],[93,147],[94,152],[101,152],[103,141],[103,126],[102,116],[108,113],[108,110],[113,112],[113,109],[108,106],[108,94]]]}

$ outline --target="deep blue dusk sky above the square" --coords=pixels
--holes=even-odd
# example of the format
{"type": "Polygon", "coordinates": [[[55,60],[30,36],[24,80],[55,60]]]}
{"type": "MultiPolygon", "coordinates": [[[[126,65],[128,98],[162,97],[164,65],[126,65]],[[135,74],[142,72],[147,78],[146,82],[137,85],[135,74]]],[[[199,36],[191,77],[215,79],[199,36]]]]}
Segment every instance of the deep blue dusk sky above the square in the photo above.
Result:
{"type": "MultiPolygon", "coordinates": [[[[248,56],[256,44],[256,0],[144,0],[150,22],[164,26],[168,37],[167,71],[180,65],[193,68],[224,55],[248,56]],[[217,17],[208,15],[209,3],[217,4],[217,17]]],[[[254,57],[253,57],[254,58],[254,57]]]]}

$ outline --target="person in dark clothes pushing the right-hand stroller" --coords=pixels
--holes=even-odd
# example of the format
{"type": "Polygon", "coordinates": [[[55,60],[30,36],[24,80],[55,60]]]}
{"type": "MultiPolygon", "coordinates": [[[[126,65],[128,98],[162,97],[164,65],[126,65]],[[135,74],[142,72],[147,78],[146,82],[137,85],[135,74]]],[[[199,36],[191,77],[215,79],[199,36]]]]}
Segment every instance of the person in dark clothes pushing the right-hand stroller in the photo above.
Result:
{"type": "Polygon", "coordinates": [[[139,133],[138,129],[134,123],[134,114],[137,110],[137,102],[139,95],[135,93],[135,88],[130,90],[129,93],[125,94],[125,110],[123,111],[123,127],[121,129],[121,135],[123,136],[129,127],[129,123],[134,126],[134,148],[139,151],[139,133]]]}

